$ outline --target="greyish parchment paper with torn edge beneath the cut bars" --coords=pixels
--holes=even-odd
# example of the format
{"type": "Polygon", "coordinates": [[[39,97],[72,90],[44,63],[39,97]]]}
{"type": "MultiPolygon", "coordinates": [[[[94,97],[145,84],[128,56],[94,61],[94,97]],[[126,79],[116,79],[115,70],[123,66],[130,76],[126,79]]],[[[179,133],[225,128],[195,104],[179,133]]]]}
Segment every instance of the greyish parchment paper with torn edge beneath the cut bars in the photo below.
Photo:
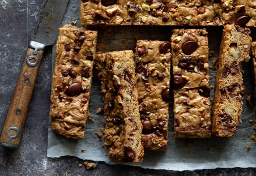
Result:
{"type": "MultiPolygon", "coordinates": [[[[79,0],[70,0],[67,7],[64,24],[75,24],[79,26],[79,0]],[[76,21],[77,20],[77,21],[76,21]]],[[[102,27],[99,29],[97,51],[107,52],[113,50],[134,50],[136,39],[169,41],[174,28],[186,27],[102,27]]],[[[199,28],[199,27],[194,27],[199,28]]],[[[222,27],[209,27],[208,31],[209,48],[214,51],[210,56],[210,65],[217,57],[219,52],[222,27]]],[[[254,31],[251,29],[254,40],[254,31]]],[[[53,49],[55,50],[55,48],[53,49]]],[[[53,52],[53,63],[55,53],[53,52]]],[[[246,95],[244,98],[242,113],[242,123],[233,138],[211,139],[176,139],[173,134],[173,114],[170,105],[169,118],[169,142],[167,151],[145,151],[144,160],[136,164],[125,164],[140,166],[149,169],[166,170],[196,170],[196,169],[215,169],[215,168],[250,168],[256,167],[256,146],[249,139],[253,135],[253,122],[255,119],[254,108],[246,102],[246,97],[253,94],[253,77],[250,70],[250,63],[244,66],[244,85],[246,95]],[[191,147],[187,147],[190,144],[191,147]],[[246,148],[251,146],[251,149],[246,148]]],[[[214,75],[216,69],[210,69],[212,77],[210,84],[214,86],[214,75]]],[[[213,96],[213,88],[211,98],[213,96]]],[[[82,160],[104,161],[108,164],[116,164],[109,161],[108,150],[103,147],[103,136],[99,137],[95,132],[101,132],[103,128],[104,114],[97,114],[98,108],[103,108],[103,95],[100,92],[99,80],[93,79],[91,107],[89,111],[93,116],[93,121],[87,120],[86,135],[83,140],[66,139],[52,131],[49,126],[48,132],[48,157],[75,156],[82,160]]],[[[50,120],[49,120],[50,121],[50,120]]]]}

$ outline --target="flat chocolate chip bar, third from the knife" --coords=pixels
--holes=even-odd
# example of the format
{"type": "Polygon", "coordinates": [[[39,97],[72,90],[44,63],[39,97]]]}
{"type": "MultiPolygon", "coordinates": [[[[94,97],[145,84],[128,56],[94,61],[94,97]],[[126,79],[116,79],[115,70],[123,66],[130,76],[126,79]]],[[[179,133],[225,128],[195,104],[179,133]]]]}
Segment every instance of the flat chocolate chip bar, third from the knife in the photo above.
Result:
{"type": "Polygon", "coordinates": [[[168,145],[170,42],[138,40],[136,76],[144,149],[168,145]]]}

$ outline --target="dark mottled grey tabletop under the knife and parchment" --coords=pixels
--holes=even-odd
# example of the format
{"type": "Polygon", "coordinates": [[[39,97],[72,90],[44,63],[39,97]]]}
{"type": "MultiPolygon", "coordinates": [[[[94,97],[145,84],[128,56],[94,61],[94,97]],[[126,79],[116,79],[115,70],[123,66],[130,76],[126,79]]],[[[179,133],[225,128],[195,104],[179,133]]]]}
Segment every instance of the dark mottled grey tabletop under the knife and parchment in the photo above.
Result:
{"type": "MultiPolygon", "coordinates": [[[[77,0],[78,1],[78,0],[77,0]]],[[[8,111],[42,0],[0,1],[0,130],[8,111]]],[[[256,175],[255,168],[196,171],[150,170],[98,162],[87,170],[75,157],[48,158],[52,47],[42,59],[19,149],[0,147],[0,175],[256,175]]],[[[252,161],[255,162],[255,161],[252,161]]]]}

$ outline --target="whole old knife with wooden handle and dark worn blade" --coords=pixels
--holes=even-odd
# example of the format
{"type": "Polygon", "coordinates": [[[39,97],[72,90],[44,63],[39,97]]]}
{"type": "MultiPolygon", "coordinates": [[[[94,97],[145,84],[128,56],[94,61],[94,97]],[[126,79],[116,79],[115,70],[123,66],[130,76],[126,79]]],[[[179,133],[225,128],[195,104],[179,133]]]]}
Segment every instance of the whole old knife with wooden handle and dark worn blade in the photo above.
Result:
{"type": "Polygon", "coordinates": [[[0,145],[18,148],[45,46],[53,45],[69,0],[44,0],[20,71],[0,145]]]}

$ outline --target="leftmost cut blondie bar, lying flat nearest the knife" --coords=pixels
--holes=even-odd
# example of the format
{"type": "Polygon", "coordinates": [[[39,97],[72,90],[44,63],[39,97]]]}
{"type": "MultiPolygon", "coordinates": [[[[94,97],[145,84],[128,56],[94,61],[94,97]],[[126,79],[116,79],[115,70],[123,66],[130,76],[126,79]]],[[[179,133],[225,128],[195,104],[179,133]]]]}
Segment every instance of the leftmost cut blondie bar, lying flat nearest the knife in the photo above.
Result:
{"type": "Polygon", "coordinates": [[[49,116],[52,130],[67,138],[84,138],[96,40],[96,31],[59,29],[49,116]]]}

